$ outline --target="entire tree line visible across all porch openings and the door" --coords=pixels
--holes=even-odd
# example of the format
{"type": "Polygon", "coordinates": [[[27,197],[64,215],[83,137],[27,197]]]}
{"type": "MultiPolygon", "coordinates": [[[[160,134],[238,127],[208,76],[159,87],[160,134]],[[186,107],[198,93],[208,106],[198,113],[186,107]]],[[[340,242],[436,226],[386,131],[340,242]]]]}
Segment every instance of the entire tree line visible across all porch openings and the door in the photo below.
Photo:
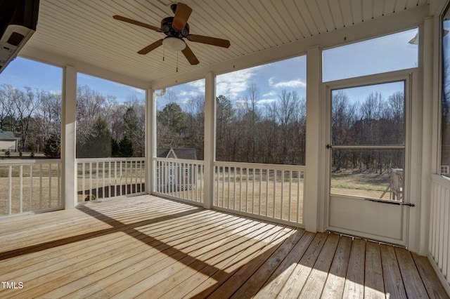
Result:
{"type": "MultiPolygon", "coordinates": [[[[283,90],[262,100],[250,84],[245,95],[216,98],[216,159],[269,164],[305,164],[306,100],[283,90]]],[[[195,148],[204,155],[205,98],[180,104],[169,90],[157,111],[158,147],[195,148]]],[[[135,96],[119,102],[89,86],[77,87],[77,157],[143,157],[145,103],[135,96]]],[[[404,145],[404,95],[387,99],[371,93],[352,102],[345,91],[333,92],[333,145],[404,145]]],[[[61,94],[0,88],[0,128],[19,138],[20,149],[59,157],[61,94]]],[[[333,168],[388,168],[401,164],[398,151],[333,150],[333,168]],[[397,163],[398,162],[398,163],[397,163]]]]}

